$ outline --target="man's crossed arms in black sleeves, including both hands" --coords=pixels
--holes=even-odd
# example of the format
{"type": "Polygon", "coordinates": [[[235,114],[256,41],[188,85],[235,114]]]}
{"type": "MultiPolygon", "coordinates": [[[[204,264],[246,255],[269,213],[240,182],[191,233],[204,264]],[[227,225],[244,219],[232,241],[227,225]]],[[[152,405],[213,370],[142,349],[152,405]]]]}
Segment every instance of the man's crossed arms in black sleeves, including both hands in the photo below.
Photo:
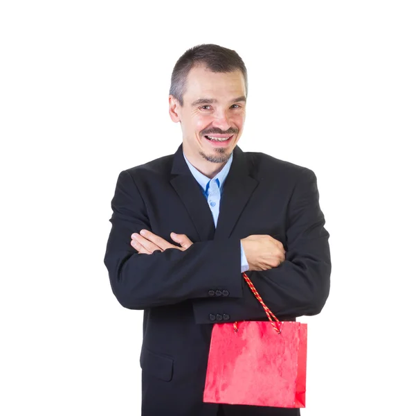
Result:
{"type": "MultiPolygon", "coordinates": [[[[316,177],[308,169],[303,173],[289,202],[285,257],[280,256],[284,248],[269,236],[263,237],[269,240],[264,243],[260,243],[262,236],[249,236],[252,243],[242,239],[248,276],[276,315],[319,313],[329,293],[329,234],[323,227],[316,177]],[[275,254],[269,252],[272,245],[277,248],[275,254]],[[257,254],[263,250],[270,259],[257,254]]],[[[181,243],[176,245],[149,234],[145,204],[128,171],[118,177],[112,209],[104,263],[122,306],[147,309],[191,300],[197,323],[205,323],[208,311],[220,308],[222,302],[231,320],[263,317],[241,275],[239,239],[192,243],[184,234],[176,234],[171,236],[181,243]],[[148,231],[145,237],[140,236],[143,229],[148,231]],[[137,244],[131,245],[131,240],[137,244]],[[210,295],[214,291],[228,295],[215,299],[210,295]]]]}

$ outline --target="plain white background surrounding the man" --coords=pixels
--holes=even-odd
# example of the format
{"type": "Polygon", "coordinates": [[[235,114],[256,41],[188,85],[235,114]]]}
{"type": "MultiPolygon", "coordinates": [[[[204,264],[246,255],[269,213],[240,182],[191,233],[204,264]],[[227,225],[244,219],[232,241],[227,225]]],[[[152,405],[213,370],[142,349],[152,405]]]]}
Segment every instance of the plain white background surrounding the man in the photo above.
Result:
{"type": "Polygon", "coordinates": [[[331,234],[304,416],[408,415],[406,1],[3,1],[1,398],[14,415],[140,413],[142,311],[104,250],[120,171],[172,154],[191,46],[248,68],[239,146],[307,166],[331,234]]]}

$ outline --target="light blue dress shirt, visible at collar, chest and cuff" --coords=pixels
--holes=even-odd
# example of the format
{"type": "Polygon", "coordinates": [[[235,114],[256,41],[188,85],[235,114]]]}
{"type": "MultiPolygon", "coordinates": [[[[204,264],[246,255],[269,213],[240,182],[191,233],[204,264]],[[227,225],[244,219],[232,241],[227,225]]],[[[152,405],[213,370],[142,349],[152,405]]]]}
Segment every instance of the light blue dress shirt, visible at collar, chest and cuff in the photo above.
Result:
{"type": "MultiPolygon", "coordinates": [[[[195,168],[185,157],[185,153],[183,153],[183,157],[185,158],[186,163],[190,168],[190,172],[195,180],[199,183],[203,195],[208,200],[208,205],[210,207],[210,211],[212,211],[213,221],[215,223],[215,227],[217,226],[217,218],[219,218],[219,211],[220,211],[220,200],[221,195],[223,194],[223,185],[224,181],[226,180],[228,171],[230,171],[230,166],[233,162],[233,153],[230,155],[228,161],[223,166],[221,171],[217,173],[213,179],[210,179],[203,173],[199,172],[197,168],[195,168]]],[[[240,241],[240,250],[242,253],[242,272],[246,272],[248,270],[248,263],[246,259],[246,254],[244,254],[243,245],[240,241]]]]}

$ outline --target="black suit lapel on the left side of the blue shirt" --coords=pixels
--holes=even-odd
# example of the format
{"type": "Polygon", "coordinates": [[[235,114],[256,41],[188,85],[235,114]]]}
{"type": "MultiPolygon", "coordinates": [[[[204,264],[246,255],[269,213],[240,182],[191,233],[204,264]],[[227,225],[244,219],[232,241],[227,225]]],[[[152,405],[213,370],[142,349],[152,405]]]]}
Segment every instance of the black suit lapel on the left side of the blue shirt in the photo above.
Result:
{"type": "Polygon", "coordinates": [[[208,202],[203,196],[200,185],[194,179],[183,157],[182,145],[174,154],[170,183],[185,205],[190,219],[196,228],[199,241],[212,240],[215,235],[215,223],[208,202]]]}

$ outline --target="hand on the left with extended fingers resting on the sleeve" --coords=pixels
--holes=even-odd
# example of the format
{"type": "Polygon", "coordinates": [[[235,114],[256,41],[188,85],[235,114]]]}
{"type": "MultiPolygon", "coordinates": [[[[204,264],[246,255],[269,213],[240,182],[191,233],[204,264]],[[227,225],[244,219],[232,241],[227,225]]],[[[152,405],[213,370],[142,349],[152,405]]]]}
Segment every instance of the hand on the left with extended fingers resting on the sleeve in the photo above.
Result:
{"type": "Polygon", "coordinates": [[[176,243],[179,243],[181,247],[168,243],[165,239],[156,236],[156,234],[147,229],[141,229],[140,234],[135,232],[131,235],[131,246],[139,254],[152,254],[155,250],[163,252],[167,248],[177,248],[178,250],[185,251],[193,244],[185,234],[175,234],[172,232],[170,233],[170,238],[176,243]]]}

